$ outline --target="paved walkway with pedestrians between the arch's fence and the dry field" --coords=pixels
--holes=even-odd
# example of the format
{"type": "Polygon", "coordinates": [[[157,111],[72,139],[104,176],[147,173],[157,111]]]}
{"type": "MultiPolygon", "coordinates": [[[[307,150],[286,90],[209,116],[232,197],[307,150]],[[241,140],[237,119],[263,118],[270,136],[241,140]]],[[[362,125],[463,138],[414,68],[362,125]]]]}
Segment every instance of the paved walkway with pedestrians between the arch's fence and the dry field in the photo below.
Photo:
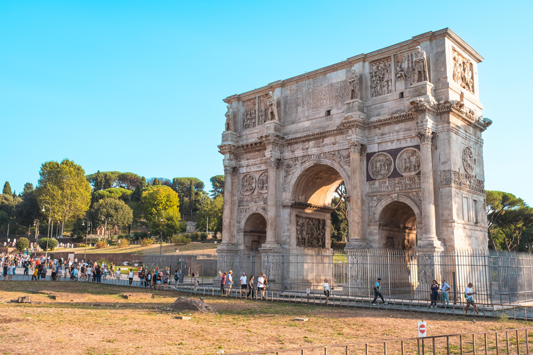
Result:
{"type": "MultiPolygon", "coordinates": [[[[14,281],[30,281],[31,276],[15,275],[13,277],[14,281]]],[[[201,280],[205,281],[205,280],[201,280]]],[[[189,293],[190,295],[206,295],[206,296],[218,296],[221,297],[221,292],[219,287],[212,285],[212,281],[209,280],[210,284],[199,285],[196,292],[192,284],[174,284],[174,279],[172,283],[169,284],[167,291],[179,291],[183,293],[189,293]]],[[[45,281],[39,282],[52,282],[50,276],[46,277],[45,281]]],[[[69,277],[61,277],[60,280],[56,282],[74,282],[71,281],[69,277]]],[[[108,277],[107,279],[102,279],[101,284],[107,285],[117,285],[117,286],[130,286],[134,288],[144,288],[141,286],[141,282],[137,276],[134,277],[132,284],[130,285],[129,280],[123,276],[121,279],[116,279],[115,277],[108,277]]],[[[163,287],[161,287],[163,289],[163,287]]],[[[251,300],[250,297],[246,297],[243,293],[239,294],[239,288],[232,288],[229,298],[237,298],[242,300],[251,300]]],[[[226,296],[224,296],[226,297],[226,296]]],[[[340,308],[349,308],[349,309],[376,309],[376,310],[387,310],[387,311],[404,311],[404,312],[416,312],[416,313],[427,313],[427,314],[442,314],[442,315],[452,315],[452,316],[463,316],[464,315],[464,305],[450,304],[450,308],[442,308],[439,304],[439,308],[430,308],[430,302],[424,300],[402,300],[402,299],[387,299],[388,304],[384,305],[381,302],[377,303],[375,306],[372,306],[371,302],[373,297],[353,297],[346,295],[332,295],[328,304],[325,304],[325,296],[321,293],[310,293],[309,295],[305,293],[295,293],[294,291],[276,291],[269,290],[267,291],[265,297],[255,297],[253,300],[263,301],[263,302],[287,302],[294,304],[307,304],[315,306],[334,306],[340,308]]],[[[482,315],[477,315],[477,317],[487,317],[487,318],[498,318],[498,317],[509,317],[510,319],[516,320],[533,320],[533,307],[532,306],[523,306],[523,305],[497,305],[497,306],[482,306],[478,305],[482,315]],[[505,315],[503,315],[505,314],[505,315]],[[507,316],[506,316],[507,315],[507,316]]],[[[473,309],[469,309],[469,315],[473,316],[473,309]]]]}

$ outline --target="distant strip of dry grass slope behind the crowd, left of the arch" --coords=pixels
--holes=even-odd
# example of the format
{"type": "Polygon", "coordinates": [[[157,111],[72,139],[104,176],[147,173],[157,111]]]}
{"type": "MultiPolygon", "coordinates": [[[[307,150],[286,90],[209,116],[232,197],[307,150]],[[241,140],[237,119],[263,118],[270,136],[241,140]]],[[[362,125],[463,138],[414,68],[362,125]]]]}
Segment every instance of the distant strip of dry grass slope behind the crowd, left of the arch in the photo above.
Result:
{"type": "MultiPolygon", "coordinates": [[[[183,253],[194,253],[194,252],[205,252],[208,254],[212,254],[219,244],[214,243],[190,243],[187,245],[174,245],[174,244],[163,244],[162,245],[162,252],[163,254],[168,254],[174,252],[176,249],[179,250],[179,252],[183,253]]],[[[109,246],[108,248],[103,249],[96,249],[95,247],[87,247],[87,254],[101,254],[101,253],[110,253],[110,254],[137,254],[137,255],[144,255],[144,254],[153,254],[158,253],[160,249],[159,244],[153,244],[149,245],[147,247],[143,247],[141,245],[128,245],[125,248],[118,248],[115,246],[109,246]]],[[[74,248],[74,249],[62,249],[57,248],[56,252],[78,252],[83,253],[85,248],[74,248]]]]}

